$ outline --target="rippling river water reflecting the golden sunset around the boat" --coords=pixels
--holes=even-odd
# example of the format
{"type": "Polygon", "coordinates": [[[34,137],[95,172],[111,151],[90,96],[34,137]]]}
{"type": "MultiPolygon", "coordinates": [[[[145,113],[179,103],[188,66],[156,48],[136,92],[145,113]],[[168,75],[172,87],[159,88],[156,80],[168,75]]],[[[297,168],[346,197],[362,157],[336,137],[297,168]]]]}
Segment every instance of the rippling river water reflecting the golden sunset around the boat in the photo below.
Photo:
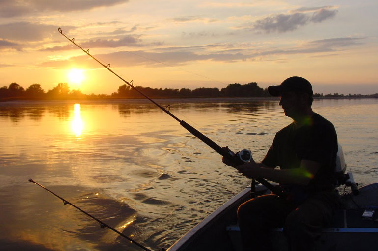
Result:
{"type": "MultiPolygon", "coordinates": [[[[159,99],[221,146],[260,161],[291,122],[277,99],[159,99]]],[[[377,182],[378,99],[315,100],[360,186],[377,182]]],[[[0,103],[2,251],[141,250],[28,182],[137,242],[169,247],[250,180],[145,100],[0,103]]]]}

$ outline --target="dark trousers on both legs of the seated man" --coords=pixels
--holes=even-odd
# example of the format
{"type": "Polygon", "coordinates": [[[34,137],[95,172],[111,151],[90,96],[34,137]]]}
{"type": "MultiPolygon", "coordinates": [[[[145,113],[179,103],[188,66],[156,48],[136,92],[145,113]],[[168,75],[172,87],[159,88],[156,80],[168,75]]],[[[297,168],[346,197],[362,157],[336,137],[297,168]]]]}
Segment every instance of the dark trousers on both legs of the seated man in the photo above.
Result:
{"type": "Polygon", "coordinates": [[[269,231],[276,227],[284,227],[289,250],[312,251],[338,205],[334,191],[312,194],[299,205],[275,194],[250,199],[238,208],[244,251],[271,251],[269,231]]]}

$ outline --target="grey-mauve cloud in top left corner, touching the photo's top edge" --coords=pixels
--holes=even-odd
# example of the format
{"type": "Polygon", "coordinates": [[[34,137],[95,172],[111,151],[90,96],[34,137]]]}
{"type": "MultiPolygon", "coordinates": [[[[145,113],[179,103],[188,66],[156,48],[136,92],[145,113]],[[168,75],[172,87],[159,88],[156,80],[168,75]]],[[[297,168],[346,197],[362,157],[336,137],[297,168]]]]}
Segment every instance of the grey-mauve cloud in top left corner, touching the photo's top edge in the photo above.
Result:
{"type": "Polygon", "coordinates": [[[0,16],[11,18],[40,12],[70,12],[108,7],[129,0],[1,0],[0,16]]]}

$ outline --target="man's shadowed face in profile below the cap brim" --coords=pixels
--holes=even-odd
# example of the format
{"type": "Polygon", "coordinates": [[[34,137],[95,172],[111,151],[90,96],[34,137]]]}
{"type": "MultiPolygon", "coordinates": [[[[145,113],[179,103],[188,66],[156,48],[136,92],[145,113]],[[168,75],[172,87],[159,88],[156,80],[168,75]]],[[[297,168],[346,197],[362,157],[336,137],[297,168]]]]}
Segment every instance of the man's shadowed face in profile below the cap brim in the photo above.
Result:
{"type": "Polygon", "coordinates": [[[286,116],[294,119],[301,114],[304,108],[302,101],[300,95],[294,91],[284,91],[281,94],[279,105],[282,106],[286,116]]]}

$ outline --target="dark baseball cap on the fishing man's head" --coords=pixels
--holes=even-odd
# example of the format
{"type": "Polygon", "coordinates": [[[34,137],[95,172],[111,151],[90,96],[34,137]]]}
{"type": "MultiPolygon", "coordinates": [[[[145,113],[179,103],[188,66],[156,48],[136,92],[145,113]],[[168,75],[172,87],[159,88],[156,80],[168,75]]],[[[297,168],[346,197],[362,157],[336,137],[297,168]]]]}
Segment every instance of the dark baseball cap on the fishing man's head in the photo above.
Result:
{"type": "Polygon", "coordinates": [[[279,86],[268,87],[268,92],[274,97],[280,96],[283,91],[303,91],[310,95],[313,94],[310,82],[297,76],[285,79],[279,86]]]}

